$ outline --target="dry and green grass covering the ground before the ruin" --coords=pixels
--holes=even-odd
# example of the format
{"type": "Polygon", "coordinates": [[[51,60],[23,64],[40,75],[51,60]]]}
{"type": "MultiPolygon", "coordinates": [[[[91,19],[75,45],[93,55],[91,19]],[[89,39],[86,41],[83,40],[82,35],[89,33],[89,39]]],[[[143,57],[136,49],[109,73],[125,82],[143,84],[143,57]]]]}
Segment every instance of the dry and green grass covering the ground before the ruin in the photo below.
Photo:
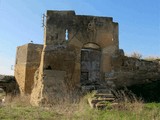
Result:
{"type": "MultiPolygon", "coordinates": [[[[120,102],[112,109],[91,109],[84,96],[78,103],[57,103],[52,107],[32,107],[29,96],[8,96],[0,107],[0,120],[159,120],[160,103],[120,102]]],[[[108,104],[109,105],[109,104],[108,104]]]]}

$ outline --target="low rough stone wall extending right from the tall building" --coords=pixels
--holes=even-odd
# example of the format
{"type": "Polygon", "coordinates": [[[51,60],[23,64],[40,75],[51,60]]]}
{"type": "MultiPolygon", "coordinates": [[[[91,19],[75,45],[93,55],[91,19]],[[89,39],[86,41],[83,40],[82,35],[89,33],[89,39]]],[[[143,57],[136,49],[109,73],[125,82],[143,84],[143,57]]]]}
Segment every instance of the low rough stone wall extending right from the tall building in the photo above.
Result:
{"type": "Polygon", "coordinates": [[[132,86],[146,84],[160,80],[160,64],[158,61],[112,56],[112,71],[106,72],[105,81],[112,87],[132,86]]]}

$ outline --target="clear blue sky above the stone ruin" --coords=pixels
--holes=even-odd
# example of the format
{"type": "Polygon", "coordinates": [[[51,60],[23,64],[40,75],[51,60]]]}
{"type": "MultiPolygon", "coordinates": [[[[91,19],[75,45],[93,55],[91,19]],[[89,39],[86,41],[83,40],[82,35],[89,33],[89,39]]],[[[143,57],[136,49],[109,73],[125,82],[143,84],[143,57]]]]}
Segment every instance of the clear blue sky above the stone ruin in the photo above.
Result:
{"type": "Polygon", "coordinates": [[[0,0],[0,74],[14,74],[17,46],[43,44],[47,10],[113,17],[125,53],[160,56],[160,0],[0,0]]]}

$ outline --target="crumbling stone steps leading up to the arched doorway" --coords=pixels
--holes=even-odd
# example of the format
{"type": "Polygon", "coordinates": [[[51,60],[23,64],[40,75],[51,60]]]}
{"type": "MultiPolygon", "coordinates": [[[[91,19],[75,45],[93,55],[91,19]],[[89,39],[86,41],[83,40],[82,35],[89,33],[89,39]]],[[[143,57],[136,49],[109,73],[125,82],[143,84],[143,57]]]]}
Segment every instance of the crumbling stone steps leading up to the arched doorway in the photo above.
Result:
{"type": "Polygon", "coordinates": [[[83,91],[90,91],[93,95],[88,98],[88,103],[91,108],[97,109],[111,109],[114,105],[117,105],[115,96],[112,94],[112,91],[107,86],[102,84],[92,84],[88,86],[82,86],[83,91]]]}

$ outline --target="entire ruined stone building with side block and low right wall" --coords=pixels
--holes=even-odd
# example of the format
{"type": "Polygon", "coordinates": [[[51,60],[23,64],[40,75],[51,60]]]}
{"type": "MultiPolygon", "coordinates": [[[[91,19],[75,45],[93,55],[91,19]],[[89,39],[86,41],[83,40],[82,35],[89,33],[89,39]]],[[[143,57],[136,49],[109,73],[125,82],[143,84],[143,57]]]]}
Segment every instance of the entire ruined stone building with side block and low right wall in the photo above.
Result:
{"type": "Polygon", "coordinates": [[[53,101],[62,89],[160,80],[160,67],[157,61],[124,56],[118,23],[111,17],[47,11],[44,44],[17,47],[15,77],[21,94],[31,94],[31,104],[39,105],[44,99],[53,101]]]}

